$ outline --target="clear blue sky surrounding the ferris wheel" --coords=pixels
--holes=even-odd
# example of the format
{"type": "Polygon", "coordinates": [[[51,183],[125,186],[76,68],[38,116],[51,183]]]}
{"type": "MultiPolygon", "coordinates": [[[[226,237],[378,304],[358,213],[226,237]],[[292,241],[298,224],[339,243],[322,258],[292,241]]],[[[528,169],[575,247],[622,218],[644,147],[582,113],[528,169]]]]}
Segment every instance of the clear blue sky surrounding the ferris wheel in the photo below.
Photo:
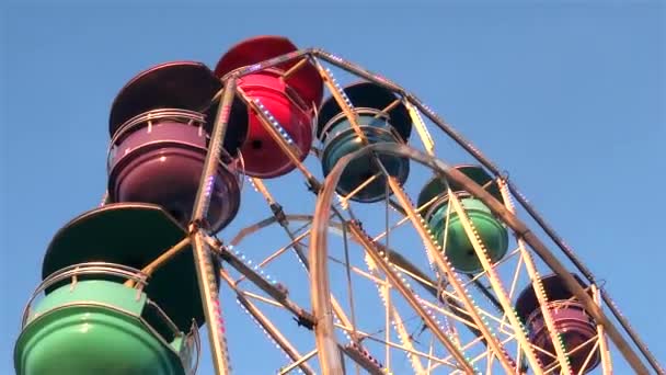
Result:
{"type": "MultiPolygon", "coordinates": [[[[13,373],[51,236],[103,194],[117,90],[153,64],[214,65],[259,34],[323,47],[416,92],[510,171],[666,359],[663,2],[136,3],[0,5],[0,374],[13,373]]],[[[240,216],[263,207],[253,200],[240,216]]],[[[266,371],[255,353],[234,353],[238,374],[266,371]]]]}

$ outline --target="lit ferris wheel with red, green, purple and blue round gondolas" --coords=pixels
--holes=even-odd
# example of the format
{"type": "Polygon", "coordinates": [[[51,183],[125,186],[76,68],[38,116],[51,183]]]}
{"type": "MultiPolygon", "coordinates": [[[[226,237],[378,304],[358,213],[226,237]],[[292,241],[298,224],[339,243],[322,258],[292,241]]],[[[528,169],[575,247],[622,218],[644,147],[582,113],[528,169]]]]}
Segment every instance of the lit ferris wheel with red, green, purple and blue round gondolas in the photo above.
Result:
{"type": "Polygon", "coordinates": [[[260,36],[151,67],[108,134],[107,192],[46,250],[18,374],[194,374],[204,348],[230,374],[237,308],[277,374],[664,373],[507,173],[338,56],[260,36]]]}

